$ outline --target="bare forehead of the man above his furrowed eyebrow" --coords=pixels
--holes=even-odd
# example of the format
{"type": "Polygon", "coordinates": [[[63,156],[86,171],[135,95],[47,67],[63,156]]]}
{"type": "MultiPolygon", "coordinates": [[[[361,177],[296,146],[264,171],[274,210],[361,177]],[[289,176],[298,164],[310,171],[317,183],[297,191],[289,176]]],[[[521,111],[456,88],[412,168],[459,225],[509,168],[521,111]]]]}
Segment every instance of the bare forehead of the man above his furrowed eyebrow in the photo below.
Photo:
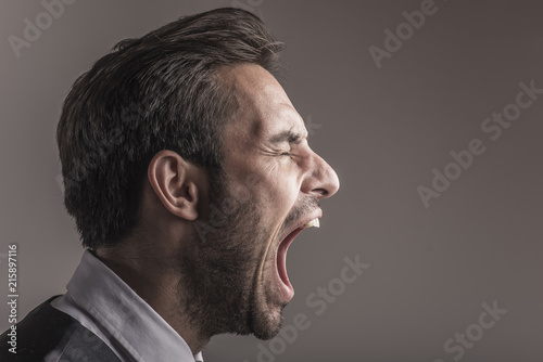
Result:
{"type": "Polygon", "coordinates": [[[239,104],[239,112],[228,126],[239,137],[267,138],[286,130],[305,133],[303,119],[287,93],[263,67],[230,66],[222,69],[219,77],[239,104]]]}

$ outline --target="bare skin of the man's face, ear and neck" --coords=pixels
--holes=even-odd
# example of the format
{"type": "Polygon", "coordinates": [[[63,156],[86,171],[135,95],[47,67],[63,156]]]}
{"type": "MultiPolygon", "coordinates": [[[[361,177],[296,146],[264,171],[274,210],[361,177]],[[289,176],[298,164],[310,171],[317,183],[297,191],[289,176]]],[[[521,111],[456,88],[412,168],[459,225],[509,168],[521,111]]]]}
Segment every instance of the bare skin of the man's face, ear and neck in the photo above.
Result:
{"type": "Polygon", "coordinates": [[[318,202],[339,189],[267,70],[236,65],[219,69],[219,79],[239,104],[223,134],[226,178],[210,185],[201,167],[162,151],[149,165],[140,224],[97,250],[194,353],[219,333],[277,334],[291,298],[281,292],[279,245],[320,217],[318,202]]]}

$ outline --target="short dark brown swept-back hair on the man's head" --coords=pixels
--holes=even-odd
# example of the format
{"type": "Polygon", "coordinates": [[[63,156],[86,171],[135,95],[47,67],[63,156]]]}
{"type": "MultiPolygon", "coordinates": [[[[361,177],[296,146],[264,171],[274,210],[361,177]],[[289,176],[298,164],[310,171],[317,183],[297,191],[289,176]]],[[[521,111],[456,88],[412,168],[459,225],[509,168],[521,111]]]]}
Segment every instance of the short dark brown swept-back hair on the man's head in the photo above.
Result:
{"type": "Polygon", "coordinates": [[[162,150],[223,172],[220,131],[237,111],[222,66],[273,72],[283,44],[255,15],[217,9],[126,39],[72,87],[56,129],[64,205],[91,249],[139,221],[147,168],[162,150]]]}

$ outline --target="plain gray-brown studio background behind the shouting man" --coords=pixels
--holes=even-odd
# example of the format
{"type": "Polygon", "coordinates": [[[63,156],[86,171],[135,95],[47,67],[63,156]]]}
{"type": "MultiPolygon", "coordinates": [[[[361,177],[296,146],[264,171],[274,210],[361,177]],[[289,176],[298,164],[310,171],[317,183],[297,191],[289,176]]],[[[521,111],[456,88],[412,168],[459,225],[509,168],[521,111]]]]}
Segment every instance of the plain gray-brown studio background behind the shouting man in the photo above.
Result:
{"type": "MultiPolygon", "coordinates": [[[[302,312],[311,326],[273,359],[453,361],[444,342],[497,300],[507,313],[462,361],[541,361],[543,94],[498,140],[480,128],[515,101],[519,82],[543,88],[541,2],[435,0],[437,13],[380,69],[368,48],[383,48],[383,30],[395,30],[420,0],[239,3],[287,42],[282,83],[304,119],[319,125],[311,143],[341,180],[324,203],[321,229],[302,233],[289,253],[296,295],[285,322],[302,312]],[[417,186],[430,186],[432,169],[443,171],[449,153],[473,138],[485,153],[425,208],[417,186]],[[317,315],[306,297],[356,255],[369,269],[317,315]]],[[[2,1],[0,253],[18,245],[20,316],[63,293],[81,255],[54,143],[72,82],[118,40],[231,4],[77,1],[17,59],[8,36],[22,37],[24,18],[35,23],[43,7],[2,1]]],[[[1,303],[0,327],[8,326],[1,303]]],[[[257,361],[258,344],[215,337],[204,358],[257,361]]]]}

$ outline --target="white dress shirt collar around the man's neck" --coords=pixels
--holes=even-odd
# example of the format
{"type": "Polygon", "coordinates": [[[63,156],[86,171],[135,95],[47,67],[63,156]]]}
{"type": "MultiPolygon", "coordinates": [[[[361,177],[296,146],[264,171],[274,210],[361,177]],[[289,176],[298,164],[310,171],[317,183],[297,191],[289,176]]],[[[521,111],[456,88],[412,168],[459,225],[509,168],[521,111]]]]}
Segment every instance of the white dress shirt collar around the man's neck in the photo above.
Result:
{"type": "Polygon", "coordinates": [[[121,277],[89,250],[51,306],[101,338],[122,361],[194,362],[187,342],[121,277]]]}

